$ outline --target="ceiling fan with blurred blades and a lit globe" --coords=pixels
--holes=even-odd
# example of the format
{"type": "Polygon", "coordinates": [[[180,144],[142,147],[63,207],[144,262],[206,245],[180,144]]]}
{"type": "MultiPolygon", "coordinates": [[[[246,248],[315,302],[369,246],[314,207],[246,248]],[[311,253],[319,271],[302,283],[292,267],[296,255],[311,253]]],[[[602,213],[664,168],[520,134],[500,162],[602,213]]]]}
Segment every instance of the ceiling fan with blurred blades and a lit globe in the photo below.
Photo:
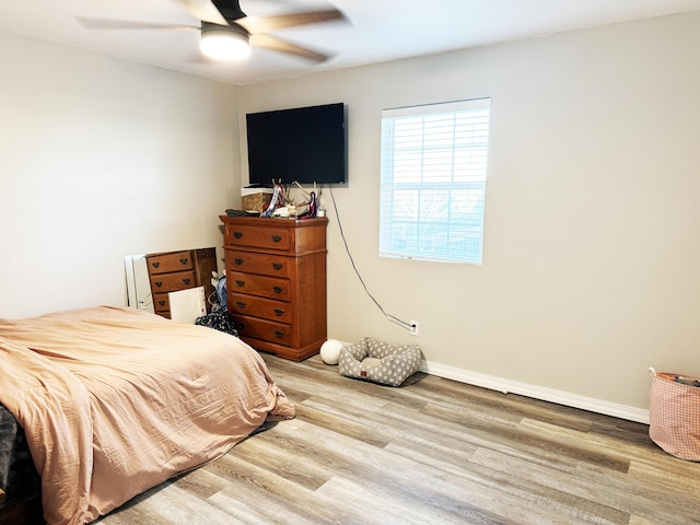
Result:
{"type": "Polygon", "coordinates": [[[90,30],[197,30],[201,33],[200,49],[213,59],[240,59],[250,52],[250,46],[323,62],[329,55],[292,44],[268,33],[301,25],[346,20],[341,11],[326,9],[277,16],[247,16],[238,0],[173,0],[183,5],[200,25],[139,22],[115,19],[75,16],[90,30]]]}

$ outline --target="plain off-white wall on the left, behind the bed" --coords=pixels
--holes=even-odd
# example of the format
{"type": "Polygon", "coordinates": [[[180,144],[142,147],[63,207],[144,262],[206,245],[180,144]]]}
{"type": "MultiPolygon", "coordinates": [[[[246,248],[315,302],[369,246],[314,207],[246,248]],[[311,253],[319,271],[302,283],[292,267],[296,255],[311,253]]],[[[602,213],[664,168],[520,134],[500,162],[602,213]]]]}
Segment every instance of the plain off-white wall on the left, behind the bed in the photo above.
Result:
{"type": "Polygon", "coordinates": [[[220,246],[236,89],[0,34],[0,317],[125,304],[124,256],[220,246]]]}

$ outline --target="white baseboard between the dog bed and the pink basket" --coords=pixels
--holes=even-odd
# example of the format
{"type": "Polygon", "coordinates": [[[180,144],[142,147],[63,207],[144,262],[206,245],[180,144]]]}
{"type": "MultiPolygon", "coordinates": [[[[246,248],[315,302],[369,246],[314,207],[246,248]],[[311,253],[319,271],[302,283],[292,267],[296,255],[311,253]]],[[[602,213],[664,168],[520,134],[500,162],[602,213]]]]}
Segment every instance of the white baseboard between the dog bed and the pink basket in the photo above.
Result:
{"type": "Polygon", "coordinates": [[[504,380],[492,375],[480,374],[478,372],[470,372],[468,370],[431,363],[428,361],[423,361],[420,370],[431,375],[467,383],[469,385],[481,386],[491,390],[502,392],[503,394],[518,394],[521,396],[532,397],[542,401],[556,402],[567,407],[581,408],[591,412],[614,416],[616,418],[649,424],[649,410],[643,410],[641,408],[603,401],[600,399],[579,396],[568,392],[528,385],[517,381],[504,380]]]}

